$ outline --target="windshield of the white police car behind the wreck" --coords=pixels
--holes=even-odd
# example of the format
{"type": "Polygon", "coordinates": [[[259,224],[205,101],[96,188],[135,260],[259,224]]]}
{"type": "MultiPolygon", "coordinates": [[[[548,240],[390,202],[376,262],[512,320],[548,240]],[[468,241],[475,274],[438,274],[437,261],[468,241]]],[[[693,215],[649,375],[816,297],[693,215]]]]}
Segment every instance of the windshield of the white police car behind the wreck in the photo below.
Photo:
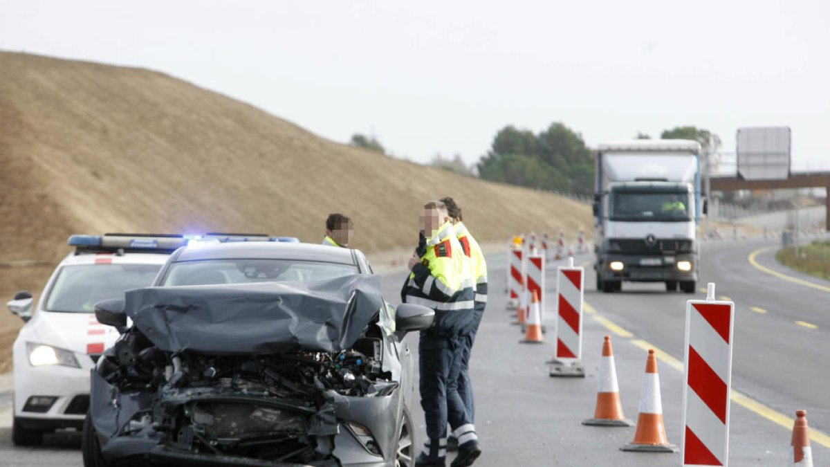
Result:
{"type": "Polygon", "coordinates": [[[123,298],[129,289],[152,285],[160,268],[160,264],[64,266],[46,297],[46,311],[93,312],[101,300],[123,298]]]}

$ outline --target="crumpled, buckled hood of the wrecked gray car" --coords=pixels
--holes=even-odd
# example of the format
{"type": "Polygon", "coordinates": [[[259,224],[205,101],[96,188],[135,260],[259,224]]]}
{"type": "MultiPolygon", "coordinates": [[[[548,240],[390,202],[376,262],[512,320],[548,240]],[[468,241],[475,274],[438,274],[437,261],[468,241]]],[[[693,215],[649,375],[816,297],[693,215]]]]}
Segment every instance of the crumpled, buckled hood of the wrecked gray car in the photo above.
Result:
{"type": "Polygon", "coordinates": [[[211,355],[342,351],[383,305],[380,278],[156,287],[126,293],[125,312],[156,347],[211,355]]]}

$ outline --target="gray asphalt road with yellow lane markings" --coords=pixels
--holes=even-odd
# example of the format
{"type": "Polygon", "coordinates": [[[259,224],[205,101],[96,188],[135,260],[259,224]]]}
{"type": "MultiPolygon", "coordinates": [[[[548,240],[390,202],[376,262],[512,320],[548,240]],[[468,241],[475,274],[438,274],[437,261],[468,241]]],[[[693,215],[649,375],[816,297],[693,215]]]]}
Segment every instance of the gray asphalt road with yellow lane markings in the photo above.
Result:
{"type": "MultiPolygon", "coordinates": [[[[750,253],[767,247],[774,243],[707,243],[701,262],[699,287],[714,282],[716,295],[735,301],[732,385],[746,398],[742,403],[733,399],[731,405],[730,465],[792,463],[790,432],[783,425],[796,409],[808,410],[811,428],[830,433],[830,366],[826,362],[830,356],[830,283],[779,266],[771,250],[757,253],[754,259],[759,267],[753,266],[750,253]],[[776,423],[776,417],[784,420],[776,423]]],[[[586,313],[583,321],[587,375],[560,379],[547,376],[545,366],[553,355],[554,322],[546,321],[549,333],[542,345],[520,344],[521,332],[510,324],[510,313],[505,310],[505,255],[488,257],[491,295],[471,364],[476,427],[485,450],[476,465],[680,465],[677,454],[619,451],[620,445],[632,440],[633,428],[588,427],[580,421],[593,415],[599,352],[603,335],[610,334],[623,409],[632,420],[637,419],[645,349],[657,347],[665,352],[658,353],[663,356],[659,366],[666,431],[671,442],[680,442],[682,367],[677,359],[682,359],[686,300],[705,295],[700,291],[695,295],[666,293],[662,284],[629,283],[623,285],[623,292],[598,293],[593,290],[590,261],[588,255],[576,258],[577,264],[586,266],[586,310],[596,311],[586,313]]],[[[553,297],[559,264],[549,263],[547,268],[549,297],[553,297]]],[[[405,272],[384,277],[384,292],[393,303],[399,300],[404,277],[405,272]]],[[[552,299],[546,308],[552,319],[552,299]]],[[[410,338],[417,349],[417,335],[410,338]]],[[[423,419],[417,406],[413,417],[421,442],[423,419]]],[[[81,465],[76,434],[53,437],[38,449],[19,449],[11,445],[10,430],[3,427],[8,421],[9,414],[0,407],[0,465],[81,465]]],[[[822,440],[825,445],[813,441],[816,465],[830,462],[830,446],[822,440]]]]}

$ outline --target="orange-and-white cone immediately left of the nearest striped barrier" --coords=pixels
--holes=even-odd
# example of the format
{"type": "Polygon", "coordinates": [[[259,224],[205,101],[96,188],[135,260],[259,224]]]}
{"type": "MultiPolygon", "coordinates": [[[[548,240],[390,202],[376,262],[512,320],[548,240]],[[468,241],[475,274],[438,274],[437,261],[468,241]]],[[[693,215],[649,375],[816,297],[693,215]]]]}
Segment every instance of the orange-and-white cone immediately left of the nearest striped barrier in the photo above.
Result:
{"type": "Polygon", "coordinates": [[[646,376],[642,378],[642,396],[640,396],[640,415],[637,417],[637,431],[634,440],[620,446],[620,450],[640,452],[677,452],[676,445],[669,444],[666,438],[666,425],[663,423],[663,405],[660,400],[660,375],[657,374],[657,356],[654,349],[648,350],[646,376]]]}

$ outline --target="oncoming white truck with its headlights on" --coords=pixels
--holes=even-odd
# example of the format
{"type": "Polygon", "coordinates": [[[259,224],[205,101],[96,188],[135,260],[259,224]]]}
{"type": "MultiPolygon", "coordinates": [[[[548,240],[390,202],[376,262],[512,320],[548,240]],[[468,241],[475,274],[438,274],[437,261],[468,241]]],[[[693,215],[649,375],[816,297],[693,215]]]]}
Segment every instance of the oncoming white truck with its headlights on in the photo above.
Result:
{"type": "Polygon", "coordinates": [[[662,282],[695,292],[700,258],[701,145],[631,140],[598,145],[593,214],[597,289],[662,282]]]}

